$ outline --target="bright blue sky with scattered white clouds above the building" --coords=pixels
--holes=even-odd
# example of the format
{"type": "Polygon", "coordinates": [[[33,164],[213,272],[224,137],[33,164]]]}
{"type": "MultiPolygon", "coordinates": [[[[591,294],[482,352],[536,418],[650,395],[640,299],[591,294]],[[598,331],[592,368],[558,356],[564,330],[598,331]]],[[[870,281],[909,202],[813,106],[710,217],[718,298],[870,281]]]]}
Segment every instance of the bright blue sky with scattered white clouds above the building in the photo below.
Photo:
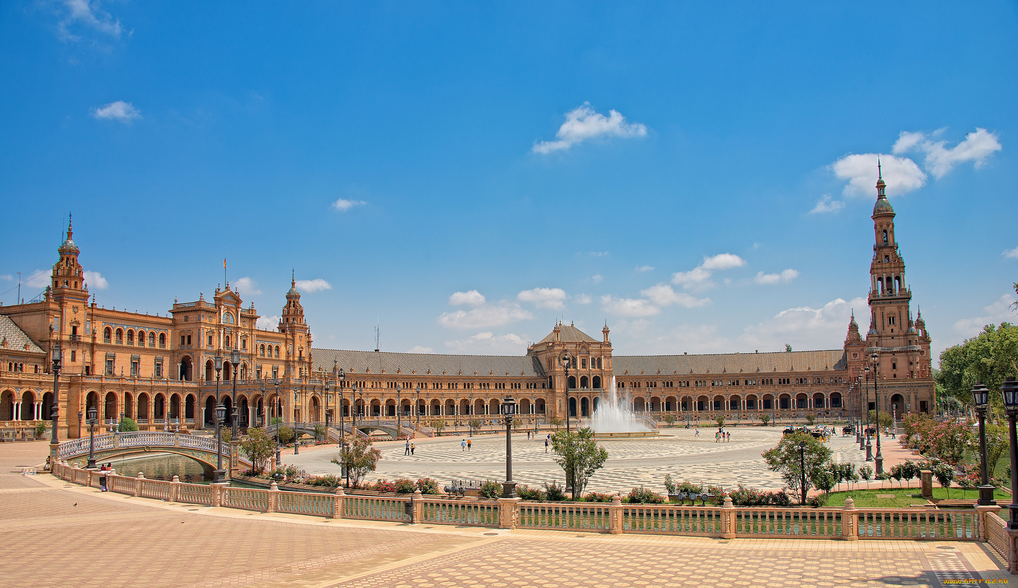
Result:
{"type": "MultiPolygon", "coordinates": [[[[1018,280],[1012,2],[0,4],[0,295],[68,212],[107,307],[223,282],[316,345],[841,346],[873,162],[940,350],[1018,280]]],[[[38,294],[45,281],[22,286],[38,294]]],[[[865,328],[865,318],[861,320],[865,328]]]]}

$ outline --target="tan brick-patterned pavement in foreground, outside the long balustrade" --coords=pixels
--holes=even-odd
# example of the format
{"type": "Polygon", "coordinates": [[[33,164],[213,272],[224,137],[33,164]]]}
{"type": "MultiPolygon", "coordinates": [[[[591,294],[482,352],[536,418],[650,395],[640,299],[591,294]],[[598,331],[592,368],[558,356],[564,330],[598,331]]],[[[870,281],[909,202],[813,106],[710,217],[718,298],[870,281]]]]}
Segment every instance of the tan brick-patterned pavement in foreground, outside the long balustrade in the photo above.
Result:
{"type": "Polygon", "coordinates": [[[47,449],[0,445],[4,586],[942,587],[1011,578],[973,542],[508,531],[195,507],[19,473],[47,449]]]}

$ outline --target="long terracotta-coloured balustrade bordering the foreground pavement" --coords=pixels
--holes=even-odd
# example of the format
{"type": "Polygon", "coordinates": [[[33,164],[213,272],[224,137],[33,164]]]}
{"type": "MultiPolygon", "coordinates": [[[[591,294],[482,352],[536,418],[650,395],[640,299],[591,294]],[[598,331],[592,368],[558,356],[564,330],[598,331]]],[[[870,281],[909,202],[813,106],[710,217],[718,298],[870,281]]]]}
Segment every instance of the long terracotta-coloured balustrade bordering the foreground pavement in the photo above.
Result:
{"type": "Polygon", "coordinates": [[[548,529],[600,533],[689,535],[720,538],[932,539],[988,541],[1018,571],[1015,536],[994,509],[796,509],[723,506],[625,505],[612,503],[532,503],[422,495],[347,494],[189,484],[100,472],[57,462],[53,474],[91,487],[105,477],[110,491],[173,503],[226,507],[264,513],[290,513],[333,519],[466,525],[502,529],[548,529]]]}

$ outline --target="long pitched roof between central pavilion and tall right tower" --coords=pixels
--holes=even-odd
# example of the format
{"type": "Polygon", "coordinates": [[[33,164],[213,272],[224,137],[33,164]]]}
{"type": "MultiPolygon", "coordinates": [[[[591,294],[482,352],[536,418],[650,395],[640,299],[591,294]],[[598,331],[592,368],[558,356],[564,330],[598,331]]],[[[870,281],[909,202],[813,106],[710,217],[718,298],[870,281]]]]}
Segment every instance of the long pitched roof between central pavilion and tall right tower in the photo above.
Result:
{"type": "Polygon", "coordinates": [[[760,373],[848,369],[844,349],[776,351],[771,353],[713,353],[705,355],[616,355],[613,371],[629,375],[700,373],[760,373]],[[692,370],[692,371],[690,371],[692,370]],[[708,371],[710,370],[710,371],[708,371]],[[740,371],[741,370],[741,371],[740,371]]]}

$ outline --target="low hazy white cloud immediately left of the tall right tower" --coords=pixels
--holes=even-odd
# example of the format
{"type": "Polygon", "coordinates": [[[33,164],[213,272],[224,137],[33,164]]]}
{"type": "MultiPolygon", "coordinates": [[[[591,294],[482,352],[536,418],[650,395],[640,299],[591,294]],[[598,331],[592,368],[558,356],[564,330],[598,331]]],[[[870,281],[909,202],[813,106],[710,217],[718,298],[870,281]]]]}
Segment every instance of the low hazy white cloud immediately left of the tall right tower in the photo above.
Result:
{"type": "Polygon", "coordinates": [[[738,342],[746,349],[760,351],[783,350],[786,343],[791,344],[792,349],[839,348],[848,333],[852,308],[862,311],[861,319],[857,317],[857,320],[865,333],[868,327],[866,299],[853,298],[846,302],[837,298],[821,308],[799,306],[782,310],[770,320],[746,327],[738,342]]]}

